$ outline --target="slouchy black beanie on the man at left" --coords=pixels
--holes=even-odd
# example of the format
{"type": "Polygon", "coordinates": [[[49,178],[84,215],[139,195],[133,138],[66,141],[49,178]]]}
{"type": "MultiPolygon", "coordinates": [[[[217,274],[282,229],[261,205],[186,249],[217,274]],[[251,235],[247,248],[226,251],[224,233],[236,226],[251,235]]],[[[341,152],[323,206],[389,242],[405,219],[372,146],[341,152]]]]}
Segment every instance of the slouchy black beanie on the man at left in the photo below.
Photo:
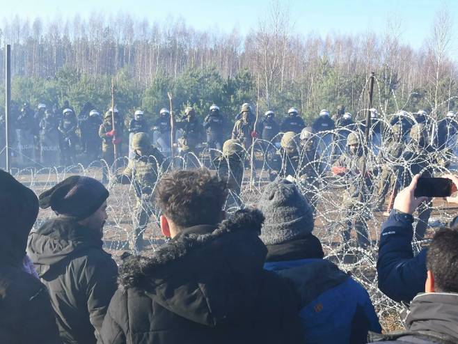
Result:
{"type": "Polygon", "coordinates": [[[108,198],[104,185],[90,177],[72,175],[38,197],[40,208],[82,220],[92,215],[108,198]]]}

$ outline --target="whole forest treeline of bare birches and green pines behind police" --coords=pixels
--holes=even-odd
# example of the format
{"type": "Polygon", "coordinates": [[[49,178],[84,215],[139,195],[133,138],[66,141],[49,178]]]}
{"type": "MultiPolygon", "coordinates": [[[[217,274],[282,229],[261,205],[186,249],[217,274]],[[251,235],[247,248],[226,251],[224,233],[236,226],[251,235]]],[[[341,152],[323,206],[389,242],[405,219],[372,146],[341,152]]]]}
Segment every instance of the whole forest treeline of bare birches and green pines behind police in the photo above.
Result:
{"type": "Polygon", "coordinates": [[[182,20],[138,21],[128,13],[47,22],[16,16],[1,24],[0,63],[4,45],[11,44],[13,100],[31,106],[69,100],[78,111],[90,101],[103,111],[114,78],[116,105],[124,113],[141,108],[156,116],[169,106],[171,92],[175,110],[191,105],[200,115],[216,103],[233,116],[250,102],[260,113],[274,109],[279,115],[294,106],[304,118],[345,104],[363,116],[367,80],[375,72],[380,112],[425,108],[440,117],[456,110],[458,95],[457,63],[448,56],[451,25],[446,10],[436,13],[431,36],[413,49],[400,42],[393,23],[382,34],[321,38],[297,32],[278,3],[245,35],[237,28],[196,31],[182,20]]]}

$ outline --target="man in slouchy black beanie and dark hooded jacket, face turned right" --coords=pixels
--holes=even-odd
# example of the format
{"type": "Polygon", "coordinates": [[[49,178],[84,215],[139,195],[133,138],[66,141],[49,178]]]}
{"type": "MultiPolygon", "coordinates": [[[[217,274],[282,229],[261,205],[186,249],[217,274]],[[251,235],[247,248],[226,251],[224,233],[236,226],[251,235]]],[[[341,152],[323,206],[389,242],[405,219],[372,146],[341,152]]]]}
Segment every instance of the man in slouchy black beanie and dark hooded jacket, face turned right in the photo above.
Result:
{"type": "Polygon", "coordinates": [[[108,196],[100,182],[79,175],[40,194],[40,208],[57,216],[32,231],[28,253],[49,290],[64,343],[97,342],[116,290],[118,268],[102,249],[108,196]]]}

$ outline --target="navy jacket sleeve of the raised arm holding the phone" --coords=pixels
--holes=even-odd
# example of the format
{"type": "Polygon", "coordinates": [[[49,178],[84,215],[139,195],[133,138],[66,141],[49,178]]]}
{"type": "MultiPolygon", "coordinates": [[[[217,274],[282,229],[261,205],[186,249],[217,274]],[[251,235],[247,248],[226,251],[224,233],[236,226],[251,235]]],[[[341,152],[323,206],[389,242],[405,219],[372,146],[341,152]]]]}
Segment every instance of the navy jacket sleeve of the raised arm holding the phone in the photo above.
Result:
{"type": "Polygon", "coordinates": [[[377,273],[379,289],[397,302],[411,302],[425,291],[426,253],[413,256],[413,217],[392,210],[381,227],[377,273]]]}

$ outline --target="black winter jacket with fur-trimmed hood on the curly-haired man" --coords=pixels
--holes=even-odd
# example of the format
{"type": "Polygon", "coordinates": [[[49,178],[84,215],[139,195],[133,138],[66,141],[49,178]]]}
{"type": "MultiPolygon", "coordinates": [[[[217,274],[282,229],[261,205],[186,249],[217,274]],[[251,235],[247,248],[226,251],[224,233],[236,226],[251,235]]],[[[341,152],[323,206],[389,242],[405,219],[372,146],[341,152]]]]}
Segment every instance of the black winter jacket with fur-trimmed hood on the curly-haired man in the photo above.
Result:
{"type": "Polygon", "coordinates": [[[262,268],[263,219],[242,210],[127,258],[99,343],[302,343],[299,295],[262,268]]]}

